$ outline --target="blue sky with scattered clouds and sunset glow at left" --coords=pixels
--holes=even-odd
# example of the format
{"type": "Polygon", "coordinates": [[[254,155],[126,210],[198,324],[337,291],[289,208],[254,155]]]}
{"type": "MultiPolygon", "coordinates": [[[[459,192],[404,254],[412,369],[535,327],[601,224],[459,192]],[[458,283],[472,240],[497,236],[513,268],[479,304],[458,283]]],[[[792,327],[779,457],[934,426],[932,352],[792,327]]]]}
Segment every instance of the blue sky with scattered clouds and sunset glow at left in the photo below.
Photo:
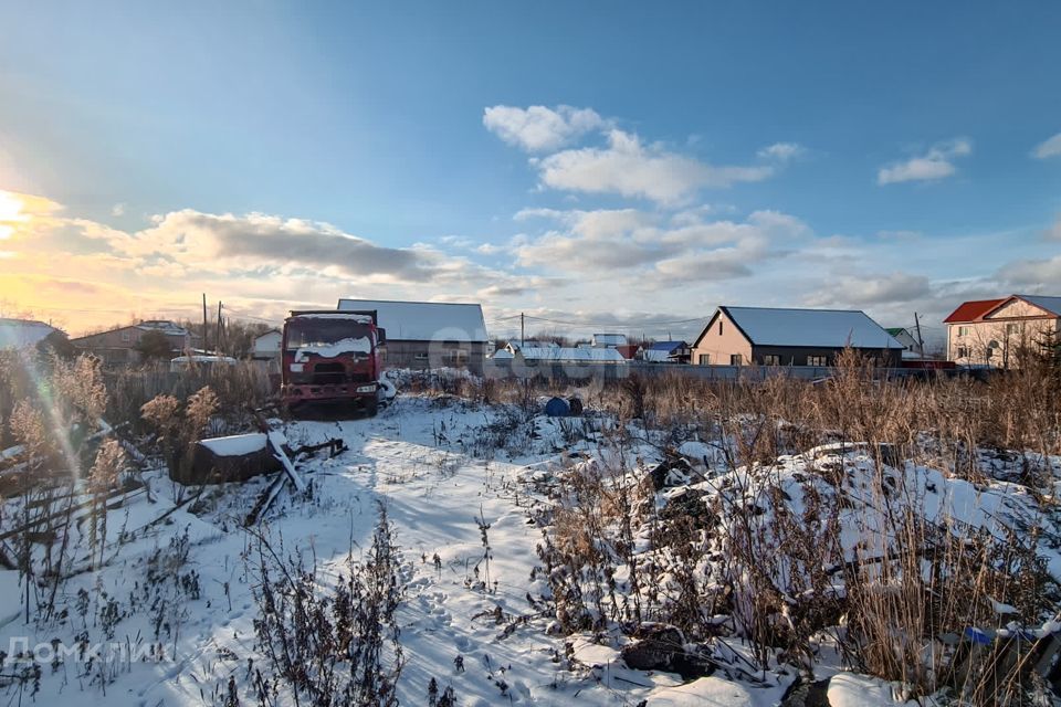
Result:
{"type": "Polygon", "coordinates": [[[0,3],[0,314],[926,337],[1061,295],[1061,4],[0,3]]]}

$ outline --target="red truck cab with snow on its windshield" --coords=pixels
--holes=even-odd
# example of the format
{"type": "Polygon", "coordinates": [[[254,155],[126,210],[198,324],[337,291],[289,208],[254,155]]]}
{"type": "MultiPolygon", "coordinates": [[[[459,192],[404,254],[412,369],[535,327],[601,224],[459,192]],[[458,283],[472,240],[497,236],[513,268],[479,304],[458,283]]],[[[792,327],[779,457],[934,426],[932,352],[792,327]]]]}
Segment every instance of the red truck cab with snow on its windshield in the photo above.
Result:
{"type": "Polygon", "coordinates": [[[376,312],[292,312],[281,342],[280,394],[288,410],[306,403],[379,407],[384,330],[376,312]]]}

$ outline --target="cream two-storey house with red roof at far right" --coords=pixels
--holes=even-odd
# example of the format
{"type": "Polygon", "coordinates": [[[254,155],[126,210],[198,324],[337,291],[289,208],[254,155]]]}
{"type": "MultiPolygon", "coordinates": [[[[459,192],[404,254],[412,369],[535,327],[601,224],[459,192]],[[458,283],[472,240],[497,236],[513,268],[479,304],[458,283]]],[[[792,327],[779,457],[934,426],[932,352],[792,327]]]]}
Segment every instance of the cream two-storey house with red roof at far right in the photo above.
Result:
{"type": "Polygon", "coordinates": [[[1061,297],[1010,295],[965,302],[943,320],[947,358],[962,366],[1018,368],[1061,333],[1061,297]]]}

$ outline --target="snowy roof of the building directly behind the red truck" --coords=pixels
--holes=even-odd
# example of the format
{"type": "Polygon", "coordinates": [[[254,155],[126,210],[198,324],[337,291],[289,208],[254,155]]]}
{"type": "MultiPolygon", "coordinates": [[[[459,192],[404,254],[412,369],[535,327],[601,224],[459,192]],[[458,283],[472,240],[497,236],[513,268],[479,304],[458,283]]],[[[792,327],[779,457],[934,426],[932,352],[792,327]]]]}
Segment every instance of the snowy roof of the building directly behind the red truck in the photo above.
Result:
{"type": "Polygon", "coordinates": [[[391,341],[487,340],[483,308],[471,303],[339,299],[339,310],[375,309],[391,341]]]}

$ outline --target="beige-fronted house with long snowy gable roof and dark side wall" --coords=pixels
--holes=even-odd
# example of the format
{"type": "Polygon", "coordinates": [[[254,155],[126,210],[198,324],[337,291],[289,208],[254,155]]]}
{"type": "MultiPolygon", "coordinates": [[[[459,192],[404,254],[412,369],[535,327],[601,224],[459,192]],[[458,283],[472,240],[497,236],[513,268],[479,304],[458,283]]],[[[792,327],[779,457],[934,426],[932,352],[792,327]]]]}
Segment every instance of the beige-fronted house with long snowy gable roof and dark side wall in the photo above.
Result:
{"type": "Polygon", "coordinates": [[[692,346],[700,366],[832,366],[845,347],[897,367],[903,345],[865,313],[718,307],[692,346]]]}

